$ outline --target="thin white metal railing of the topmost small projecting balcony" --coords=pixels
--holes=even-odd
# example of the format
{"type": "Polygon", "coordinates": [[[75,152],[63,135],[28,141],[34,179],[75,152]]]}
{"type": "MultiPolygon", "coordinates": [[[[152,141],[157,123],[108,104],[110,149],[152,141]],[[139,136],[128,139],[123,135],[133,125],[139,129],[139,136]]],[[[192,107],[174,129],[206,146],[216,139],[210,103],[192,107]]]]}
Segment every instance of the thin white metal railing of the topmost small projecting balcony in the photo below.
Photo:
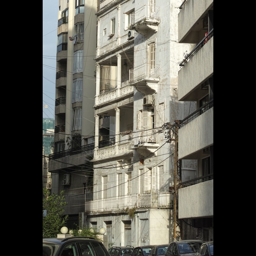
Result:
{"type": "Polygon", "coordinates": [[[154,5],[143,5],[138,10],[134,11],[130,15],[130,25],[137,23],[144,18],[152,19],[152,20],[160,20],[159,16],[159,6],[154,5]]]}

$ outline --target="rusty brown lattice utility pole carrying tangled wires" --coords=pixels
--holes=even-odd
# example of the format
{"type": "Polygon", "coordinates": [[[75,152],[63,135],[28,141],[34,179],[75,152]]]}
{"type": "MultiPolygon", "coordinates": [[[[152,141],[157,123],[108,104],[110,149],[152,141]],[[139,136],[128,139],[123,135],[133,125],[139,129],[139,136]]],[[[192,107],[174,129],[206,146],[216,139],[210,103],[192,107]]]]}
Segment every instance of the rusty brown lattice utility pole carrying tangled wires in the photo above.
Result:
{"type": "MultiPolygon", "coordinates": [[[[174,127],[174,139],[170,141],[175,142],[175,152],[174,152],[174,220],[173,220],[173,238],[174,241],[182,240],[182,222],[178,219],[178,184],[181,182],[181,177],[179,175],[179,161],[178,161],[178,127],[180,127],[180,121],[175,120],[175,123],[170,126],[174,127]]],[[[170,131],[171,133],[171,131],[170,131]]]]}

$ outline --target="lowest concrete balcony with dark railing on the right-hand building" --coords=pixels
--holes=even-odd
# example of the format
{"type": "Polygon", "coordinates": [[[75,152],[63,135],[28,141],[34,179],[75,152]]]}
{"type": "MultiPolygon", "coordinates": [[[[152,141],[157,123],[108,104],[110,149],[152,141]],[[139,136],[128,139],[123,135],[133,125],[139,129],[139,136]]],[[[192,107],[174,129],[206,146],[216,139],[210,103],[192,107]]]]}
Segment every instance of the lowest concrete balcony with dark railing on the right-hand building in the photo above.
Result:
{"type": "Polygon", "coordinates": [[[178,218],[209,216],[213,216],[213,174],[180,183],[178,218]]]}

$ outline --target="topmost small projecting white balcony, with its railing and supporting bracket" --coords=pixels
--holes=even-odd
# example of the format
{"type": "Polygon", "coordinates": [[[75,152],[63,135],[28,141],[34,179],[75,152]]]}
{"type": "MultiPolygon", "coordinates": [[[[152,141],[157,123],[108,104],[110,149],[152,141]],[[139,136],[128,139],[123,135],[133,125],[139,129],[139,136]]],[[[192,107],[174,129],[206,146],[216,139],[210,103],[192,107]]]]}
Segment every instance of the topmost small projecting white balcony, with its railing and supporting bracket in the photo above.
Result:
{"type": "Polygon", "coordinates": [[[144,36],[148,32],[157,32],[160,23],[160,11],[158,6],[144,5],[130,15],[129,30],[135,30],[144,36]]]}

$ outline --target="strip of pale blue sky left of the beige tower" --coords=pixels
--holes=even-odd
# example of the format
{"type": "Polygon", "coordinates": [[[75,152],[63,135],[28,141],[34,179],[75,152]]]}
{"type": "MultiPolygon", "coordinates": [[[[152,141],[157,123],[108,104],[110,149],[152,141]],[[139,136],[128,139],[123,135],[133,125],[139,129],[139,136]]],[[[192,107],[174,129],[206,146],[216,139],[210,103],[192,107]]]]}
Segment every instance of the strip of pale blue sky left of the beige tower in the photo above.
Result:
{"type": "Polygon", "coordinates": [[[43,117],[46,118],[54,118],[58,10],[59,0],[43,0],[43,117]]]}

